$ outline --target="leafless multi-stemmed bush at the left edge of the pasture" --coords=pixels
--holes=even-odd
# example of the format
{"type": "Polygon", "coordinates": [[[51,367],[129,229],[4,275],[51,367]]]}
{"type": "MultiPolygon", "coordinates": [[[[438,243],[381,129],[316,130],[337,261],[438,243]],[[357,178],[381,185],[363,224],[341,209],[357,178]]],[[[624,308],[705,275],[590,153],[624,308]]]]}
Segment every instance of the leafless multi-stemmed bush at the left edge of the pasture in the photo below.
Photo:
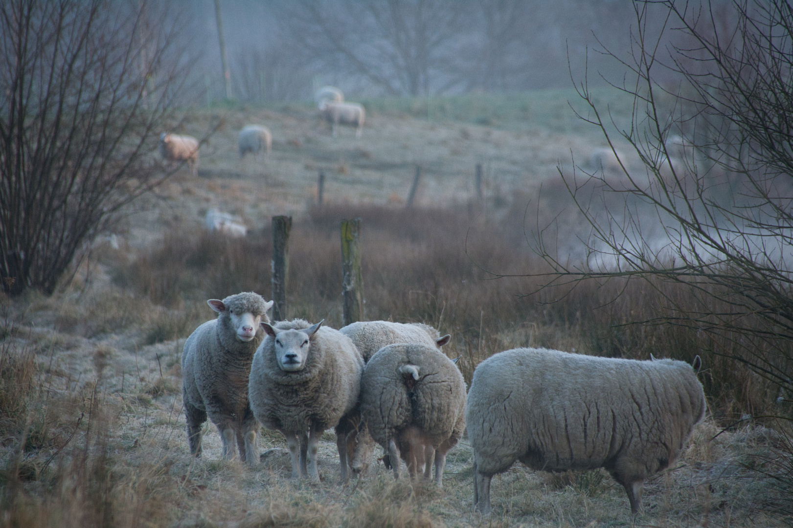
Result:
{"type": "Polygon", "coordinates": [[[52,293],[114,212],[167,177],[151,153],[185,75],[145,0],[0,3],[0,278],[52,293]]]}

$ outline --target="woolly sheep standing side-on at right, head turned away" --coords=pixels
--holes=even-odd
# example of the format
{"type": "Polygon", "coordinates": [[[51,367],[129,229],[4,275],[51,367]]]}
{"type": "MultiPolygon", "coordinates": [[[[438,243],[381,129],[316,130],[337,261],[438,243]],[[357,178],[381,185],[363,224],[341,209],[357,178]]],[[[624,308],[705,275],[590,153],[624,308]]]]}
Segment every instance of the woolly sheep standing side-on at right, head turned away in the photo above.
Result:
{"type": "Polygon", "coordinates": [[[468,393],[473,503],[491,511],[490,480],[519,460],[531,469],[604,468],[642,505],[650,475],[680,456],[705,415],[694,368],[518,348],[477,365],[468,393]]]}

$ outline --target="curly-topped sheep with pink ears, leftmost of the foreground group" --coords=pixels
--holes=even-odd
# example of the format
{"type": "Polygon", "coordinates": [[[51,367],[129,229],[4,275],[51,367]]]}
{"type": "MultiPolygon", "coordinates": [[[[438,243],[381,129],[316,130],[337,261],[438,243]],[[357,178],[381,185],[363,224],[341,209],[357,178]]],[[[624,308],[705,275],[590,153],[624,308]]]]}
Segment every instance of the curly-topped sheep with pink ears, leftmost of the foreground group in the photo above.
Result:
{"type": "Polygon", "coordinates": [[[257,293],[243,292],[224,300],[209,299],[217,319],[197,327],[182,351],[182,399],[187,419],[190,453],[201,456],[201,427],[209,419],[220,431],[223,458],[236,453],[248,465],[259,462],[256,423],[247,398],[251,360],[265,335],[259,323],[269,322],[273,301],[257,293]]]}

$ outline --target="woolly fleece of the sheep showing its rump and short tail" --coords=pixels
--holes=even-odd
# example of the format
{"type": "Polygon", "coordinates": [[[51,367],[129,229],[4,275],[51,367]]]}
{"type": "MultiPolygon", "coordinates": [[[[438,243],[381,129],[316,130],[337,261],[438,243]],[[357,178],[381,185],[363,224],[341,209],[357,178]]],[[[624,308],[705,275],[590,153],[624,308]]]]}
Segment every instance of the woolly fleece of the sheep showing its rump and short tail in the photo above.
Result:
{"type": "Polygon", "coordinates": [[[414,425],[445,452],[465,430],[465,381],[434,343],[385,346],[366,363],[361,415],[374,441],[386,450],[389,439],[414,425]],[[417,380],[406,380],[403,367],[411,365],[417,368],[417,380]]]}

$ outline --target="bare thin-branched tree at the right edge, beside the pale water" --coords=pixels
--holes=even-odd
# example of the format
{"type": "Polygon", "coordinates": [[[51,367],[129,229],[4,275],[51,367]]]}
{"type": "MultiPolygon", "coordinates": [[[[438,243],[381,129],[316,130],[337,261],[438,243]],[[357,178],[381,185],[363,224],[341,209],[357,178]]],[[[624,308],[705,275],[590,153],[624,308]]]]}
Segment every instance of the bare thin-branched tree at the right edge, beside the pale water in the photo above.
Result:
{"type": "Polygon", "coordinates": [[[581,178],[580,170],[560,168],[591,228],[588,262],[572,266],[558,258],[545,245],[549,230],[538,234],[537,249],[554,267],[551,284],[648,280],[666,304],[645,323],[718,337],[713,354],[748,365],[790,398],[793,6],[764,0],[735,2],[730,10],[719,2],[674,0],[634,6],[633,55],[623,62],[633,78],[612,85],[634,98],[632,126],[613,136],[610,117],[585,80],[578,90],[590,107],[584,118],[612,147],[617,139],[630,143],[645,168],[623,166],[617,179],[581,178]],[[649,19],[659,15],[680,33],[669,54],[659,45],[662,33],[649,31],[649,19]],[[659,85],[658,75],[668,80],[668,71],[677,82],[659,85]],[[623,206],[593,207],[591,193],[581,190],[592,180],[624,197],[623,206]],[[659,227],[660,236],[653,235],[659,227]],[[668,294],[665,283],[684,285],[690,296],[668,294]]]}

